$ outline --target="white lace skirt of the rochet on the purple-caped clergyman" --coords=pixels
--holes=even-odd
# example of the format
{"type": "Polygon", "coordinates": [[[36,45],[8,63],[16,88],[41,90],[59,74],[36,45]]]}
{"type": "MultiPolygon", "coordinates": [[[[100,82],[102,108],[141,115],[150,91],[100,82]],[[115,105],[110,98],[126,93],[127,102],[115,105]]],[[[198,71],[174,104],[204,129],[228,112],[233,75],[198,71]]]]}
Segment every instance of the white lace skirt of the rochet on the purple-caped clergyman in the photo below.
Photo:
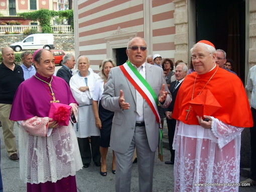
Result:
{"type": "Polygon", "coordinates": [[[56,182],[82,168],[77,138],[71,122],[52,130],[49,137],[19,129],[20,176],[26,183],[56,182]]]}

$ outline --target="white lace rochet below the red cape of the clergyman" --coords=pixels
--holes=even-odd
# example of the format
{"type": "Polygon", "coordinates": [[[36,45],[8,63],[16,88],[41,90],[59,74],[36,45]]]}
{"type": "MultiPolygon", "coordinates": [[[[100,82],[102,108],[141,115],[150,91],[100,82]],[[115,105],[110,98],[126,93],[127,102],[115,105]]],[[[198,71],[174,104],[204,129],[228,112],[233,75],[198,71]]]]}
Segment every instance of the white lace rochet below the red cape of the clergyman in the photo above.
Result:
{"type": "Polygon", "coordinates": [[[233,184],[239,183],[243,128],[211,118],[211,129],[177,121],[173,142],[176,192],[238,191],[233,184]]]}

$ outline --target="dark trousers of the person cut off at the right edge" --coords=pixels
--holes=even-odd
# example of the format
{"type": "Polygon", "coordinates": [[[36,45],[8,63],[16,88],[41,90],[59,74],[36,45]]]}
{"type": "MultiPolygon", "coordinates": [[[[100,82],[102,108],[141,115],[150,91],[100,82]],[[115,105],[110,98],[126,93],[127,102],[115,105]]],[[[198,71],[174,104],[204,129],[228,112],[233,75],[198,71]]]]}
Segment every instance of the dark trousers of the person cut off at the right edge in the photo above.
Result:
{"type": "Polygon", "coordinates": [[[256,109],[251,107],[253,127],[250,128],[250,178],[256,180],[256,109]]]}

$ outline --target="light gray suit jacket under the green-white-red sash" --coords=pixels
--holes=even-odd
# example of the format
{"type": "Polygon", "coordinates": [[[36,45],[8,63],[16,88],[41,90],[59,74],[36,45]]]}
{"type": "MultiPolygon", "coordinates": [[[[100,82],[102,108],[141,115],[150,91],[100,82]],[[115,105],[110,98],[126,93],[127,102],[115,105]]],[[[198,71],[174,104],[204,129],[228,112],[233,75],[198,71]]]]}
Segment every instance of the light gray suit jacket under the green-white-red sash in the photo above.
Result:
{"type": "MultiPolygon", "coordinates": [[[[159,96],[162,84],[166,85],[163,69],[146,63],[146,80],[151,85],[156,95],[159,96]]],[[[168,96],[164,108],[172,101],[171,93],[167,86],[168,96]]],[[[110,147],[117,152],[124,153],[129,148],[136,124],[136,89],[123,75],[119,67],[112,68],[104,92],[102,106],[114,112],[110,137],[110,147]],[[125,102],[130,104],[130,109],[122,110],[119,106],[120,90],[123,90],[125,102]]],[[[148,103],[144,100],[144,121],[150,149],[155,151],[159,143],[159,124],[148,103]]]]}

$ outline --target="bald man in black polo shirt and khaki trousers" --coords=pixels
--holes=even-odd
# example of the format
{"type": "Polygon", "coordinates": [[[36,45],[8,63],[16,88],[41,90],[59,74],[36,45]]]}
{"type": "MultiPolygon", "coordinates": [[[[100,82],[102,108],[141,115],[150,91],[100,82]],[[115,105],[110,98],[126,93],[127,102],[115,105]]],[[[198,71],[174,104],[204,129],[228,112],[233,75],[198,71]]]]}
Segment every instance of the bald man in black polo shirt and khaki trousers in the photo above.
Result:
{"type": "Polygon", "coordinates": [[[9,120],[13,99],[18,86],[24,81],[21,66],[14,63],[14,50],[10,47],[2,50],[3,62],[0,65],[0,120],[3,126],[4,141],[9,158],[19,160],[14,134],[14,121],[9,120]]]}

